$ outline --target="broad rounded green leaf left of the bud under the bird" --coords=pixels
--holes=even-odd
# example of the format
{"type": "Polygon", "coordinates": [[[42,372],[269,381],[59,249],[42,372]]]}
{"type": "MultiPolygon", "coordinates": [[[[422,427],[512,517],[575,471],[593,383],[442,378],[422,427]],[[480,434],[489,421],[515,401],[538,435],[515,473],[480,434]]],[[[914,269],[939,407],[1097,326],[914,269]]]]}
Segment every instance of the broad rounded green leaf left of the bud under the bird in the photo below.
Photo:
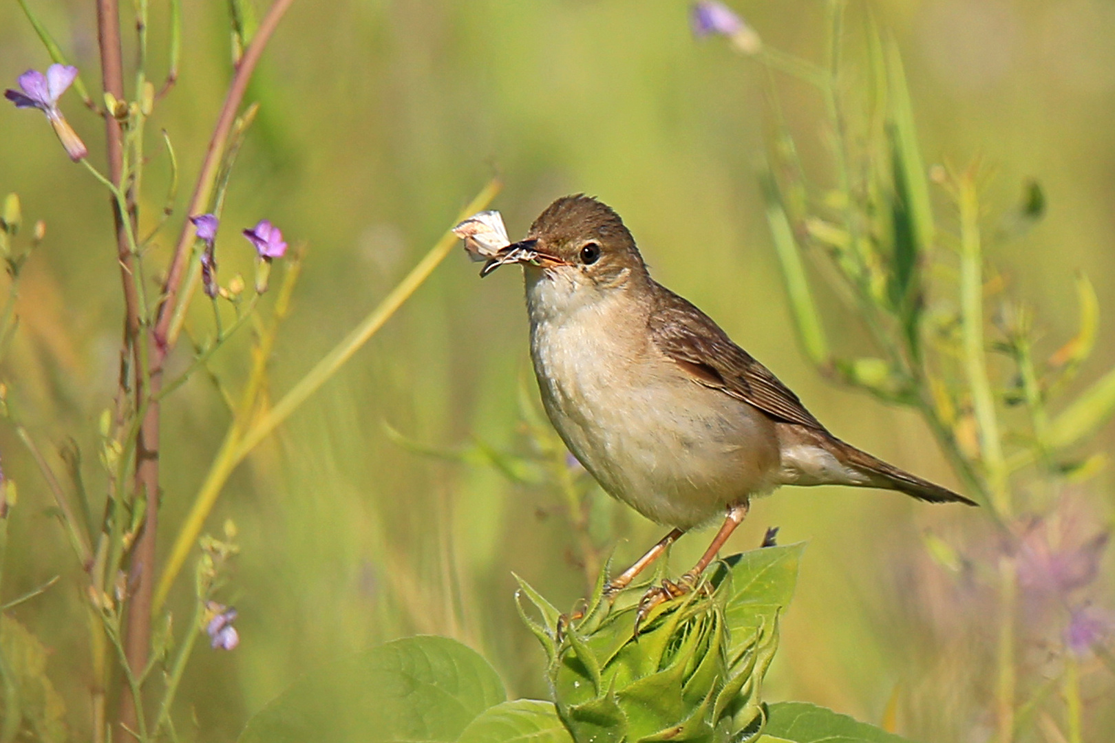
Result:
{"type": "Polygon", "coordinates": [[[478,653],[447,637],[374,647],[308,674],[256,713],[241,743],[453,743],[506,700],[478,653]]]}

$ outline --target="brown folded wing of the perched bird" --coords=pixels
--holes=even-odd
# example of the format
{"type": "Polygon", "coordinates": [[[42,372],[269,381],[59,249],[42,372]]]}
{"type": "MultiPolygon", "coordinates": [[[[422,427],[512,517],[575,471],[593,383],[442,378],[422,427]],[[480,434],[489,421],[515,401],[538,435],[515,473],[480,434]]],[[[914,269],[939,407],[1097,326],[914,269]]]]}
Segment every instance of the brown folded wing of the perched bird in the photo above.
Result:
{"type": "Polygon", "coordinates": [[[736,345],[728,334],[687,300],[659,286],[648,321],[658,349],[695,382],[743,400],[775,420],[825,431],[789,388],[736,345]]]}

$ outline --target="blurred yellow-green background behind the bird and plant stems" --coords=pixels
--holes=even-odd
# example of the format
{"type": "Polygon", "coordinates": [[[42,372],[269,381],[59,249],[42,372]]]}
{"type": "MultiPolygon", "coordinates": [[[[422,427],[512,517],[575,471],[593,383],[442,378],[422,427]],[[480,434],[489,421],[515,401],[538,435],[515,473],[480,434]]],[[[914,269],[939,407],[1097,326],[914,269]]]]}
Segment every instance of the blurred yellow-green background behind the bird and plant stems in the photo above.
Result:
{"type": "MultiPolygon", "coordinates": [[[[94,6],[32,7],[96,85],[94,6]]],[[[820,0],[734,8],[767,43],[821,57],[820,0]]],[[[1047,350],[1074,332],[1077,271],[1095,283],[1101,339],[1109,340],[1115,4],[881,0],[870,8],[904,55],[928,160],[962,165],[981,156],[996,175],[992,208],[1012,204],[1026,178],[1045,188],[1048,218],[1008,250],[992,246],[989,260],[1009,292],[1038,307],[1047,350]]],[[[837,436],[957,487],[920,420],[830,385],[801,354],[756,177],[770,123],[767,71],[723,42],[696,42],[687,10],[683,2],[638,0],[295,2],[249,91],[261,114],[217,243],[225,281],[236,271],[251,275],[251,250],[236,233],[260,218],[308,246],[273,360],[274,391],[288,389],[371,309],[498,173],[505,188],[494,207],[513,238],[556,196],[599,196],[623,215],[656,277],[716,319],[837,436]]],[[[128,6],[122,11],[127,18],[128,6]]],[[[853,3],[850,26],[864,11],[853,3]]],[[[166,8],[155,3],[152,12],[158,60],[166,8]]],[[[151,127],[148,218],[167,177],[158,127],[175,144],[184,182],[196,175],[230,77],[224,3],[184,3],[183,55],[177,87],[151,127]]],[[[48,62],[18,6],[0,4],[0,79],[12,85],[26,68],[48,62]]],[[[831,172],[823,104],[806,86],[773,75],[806,167],[824,182],[831,172]]],[[[74,94],[64,109],[101,163],[99,120],[74,94]]],[[[96,422],[115,391],[122,317],[107,197],[66,159],[40,116],[6,105],[0,143],[0,192],[18,190],[25,218],[47,221],[47,239],[27,267],[21,330],[4,375],[41,441],[78,441],[96,488],[96,422]]],[[[169,233],[159,257],[176,227],[169,233]]],[[[863,350],[865,335],[834,296],[822,303],[834,343],[863,350]]],[[[195,306],[190,322],[204,338],[209,307],[195,306]]],[[[181,368],[185,348],[178,355],[181,368]]],[[[1115,344],[1101,342],[1079,385],[1113,363],[1115,344]]],[[[243,339],[214,363],[233,388],[246,366],[243,339]]],[[[521,281],[502,271],[481,282],[476,266],[455,253],[241,466],[209,530],[219,532],[225,518],[239,527],[243,553],[230,603],[243,639],[234,653],[195,654],[180,707],[196,729],[180,723],[180,734],[233,740],[251,712],[304,669],[414,633],[460,638],[493,659],[512,694],[545,694],[542,654],[515,615],[511,571],[564,606],[584,594],[558,497],[511,485],[489,467],[411,453],[384,429],[387,422],[444,448],[473,439],[514,448],[516,391],[526,381],[533,393],[530,374],[521,281]]],[[[187,509],[226,421],[203,377],[167,405],[164,524],[187,509]]],[[[1109,451],[1111,427],[1104,437],[1109,451]]],[[[64,576],[16,616],[52,648],[49,672],[80,737],[89,683],[80,575],[41,479],[7,428],[0,453],[21,490],[4,593],[64,576]]],[[[1089,487],[1111,493],[1109,471],[1089,487]]],[[[623,507],[602,508],[607,544],[623,539],[619,561],[663,531],[623,507]]],[[[784,544],[809,541],[767,696],[872,722],[896,687],[924,704],[935,700],[938,714],[966,703],[957,697],[967,691],[951,687],[938,667],[938,636],[910,597],[920,580],[910,566],[923,551],[923,530],[948,532],[973,518],[958,507],[845,488],[786,488],[753,508],[730,547],[757,546],[768,526],[782,528],[784,544]]],[[[165,549],[172,532],[159,538],[165,549]]],[[[687,566],[704,547],[704,535],[683,539],[675,565],[687,566]]],[[[171,602],[176,616],[190,605],[190,574],[171,602]]],[[[982,620],[970,606],[954,612],[961,624],[982,620]]],[[[910,713],[904,732],[917,735],[917,716],[910,713]]],[[[978,731],[972,736],[982,740],[978,731]]]]}

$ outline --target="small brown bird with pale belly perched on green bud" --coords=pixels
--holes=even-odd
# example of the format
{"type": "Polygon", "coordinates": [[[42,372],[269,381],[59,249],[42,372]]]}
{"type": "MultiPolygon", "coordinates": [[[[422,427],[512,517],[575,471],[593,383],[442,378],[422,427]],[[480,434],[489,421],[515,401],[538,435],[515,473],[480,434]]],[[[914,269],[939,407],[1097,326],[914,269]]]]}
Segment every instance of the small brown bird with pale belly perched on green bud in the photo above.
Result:
{"type": "Polygon", "coordinates": [[[708,315],[650,277],[623,221],[601,202],[559,198],[481,275],[507,263],[524,267],[531,359],[554,428],[604,490],[675,527],[611,589],[686,530],[726,515],[680,585],[653,589],[644,605],[691,589],[752,497],[783,485],[976,505],[830,433],[708,315]]]}

